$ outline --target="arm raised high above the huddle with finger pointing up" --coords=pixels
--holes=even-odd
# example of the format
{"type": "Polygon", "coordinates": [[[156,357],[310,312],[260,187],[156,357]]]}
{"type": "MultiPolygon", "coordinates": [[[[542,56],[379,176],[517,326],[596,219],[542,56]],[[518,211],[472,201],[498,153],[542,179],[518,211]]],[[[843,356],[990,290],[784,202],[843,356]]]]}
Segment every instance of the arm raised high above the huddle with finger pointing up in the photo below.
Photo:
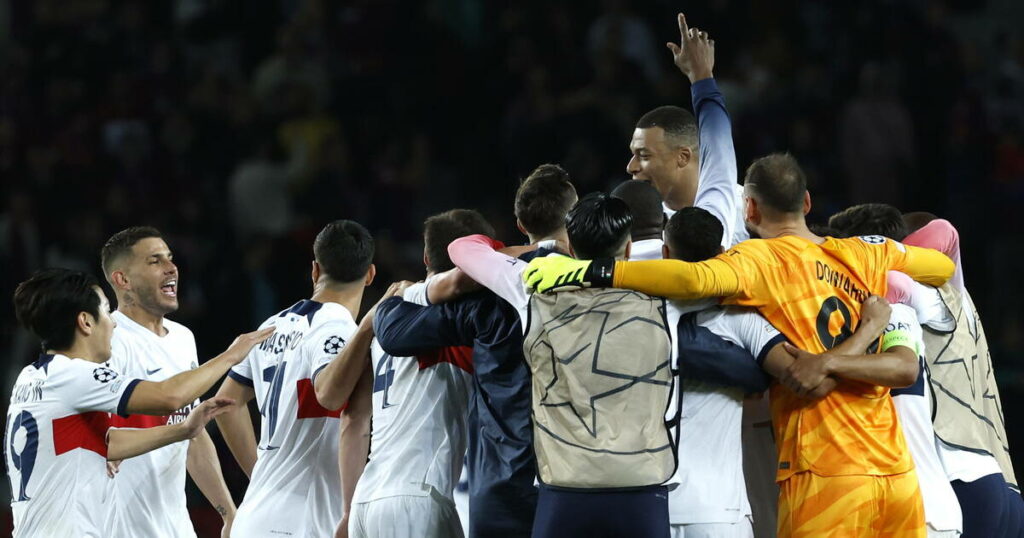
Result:
{"type": "Polygon", "coordinates": [[[718,89],[712,70],[715,67],[715,41],[703,32],[691,31],[686,16],[679,13],[679,45],[668,43],[673,60],[690,80],[690,98],[697,119],[699,140],[699,182],[694,207],[707,209],[723,227],[722,246],[732,246],[738,211],[736,203],[736,152],[732,144],[732,123],[725,109],[725,98],[718,89]]]}

